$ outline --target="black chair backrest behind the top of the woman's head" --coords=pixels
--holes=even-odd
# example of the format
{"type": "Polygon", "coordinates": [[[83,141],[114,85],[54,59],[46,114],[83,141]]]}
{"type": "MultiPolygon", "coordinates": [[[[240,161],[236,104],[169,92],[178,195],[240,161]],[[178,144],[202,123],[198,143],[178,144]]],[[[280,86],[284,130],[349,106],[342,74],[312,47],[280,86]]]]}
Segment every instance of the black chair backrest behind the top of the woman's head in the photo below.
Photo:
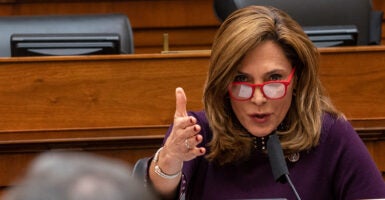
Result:
{"type": "Polygon", "coordinates": [[[250,5],[279,8],[303,27],[355,25],[358,45],[381,42],[382,12],[373,11],[371,0],[214,0],[214,10],[221,20],[250,5]]]}

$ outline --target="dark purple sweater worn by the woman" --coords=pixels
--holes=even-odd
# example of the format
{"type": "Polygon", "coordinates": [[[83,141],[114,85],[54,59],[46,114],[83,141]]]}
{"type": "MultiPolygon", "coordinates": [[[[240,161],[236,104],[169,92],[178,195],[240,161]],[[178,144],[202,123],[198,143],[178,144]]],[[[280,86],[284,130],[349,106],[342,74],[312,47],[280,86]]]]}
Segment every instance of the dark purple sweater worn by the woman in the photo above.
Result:
{"type": "MultiPolygon", "coordinates": [[[[205,146],[212,137],[204,112],[192,112],[202,127],[205,146]]],[[[169,132],[166,137],[168,137],[169,132]]],[[[319,145],[286,161],[290,179],[303,200],[385,198],[385,182],[351,124],[323,118],[319,145]]],[[[180,185],[186,199],[296,199],[288,183],[275,182],[267,155],[218,167],[203,156],[184,163],[180,185]]]]}

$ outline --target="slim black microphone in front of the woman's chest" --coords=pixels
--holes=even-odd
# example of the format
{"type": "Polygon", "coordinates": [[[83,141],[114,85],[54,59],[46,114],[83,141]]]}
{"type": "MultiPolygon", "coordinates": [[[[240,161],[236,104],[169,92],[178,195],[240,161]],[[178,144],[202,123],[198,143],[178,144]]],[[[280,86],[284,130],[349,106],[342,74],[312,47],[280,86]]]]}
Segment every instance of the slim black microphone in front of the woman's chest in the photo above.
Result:
{"type": "Polygon", "coordinates": [[[287,169],[285,156],[283,155],[282,151],[282,146],[275,131],[269,135],[269,139],[267,140],[267,154],[269,156],[270,166],[271,170],[273,171],[274,180],[280,183],[288,182],[297,199],[301,200],[297,190],[295,189],[293,183],[290,180],[289,170],[287,169]]]}

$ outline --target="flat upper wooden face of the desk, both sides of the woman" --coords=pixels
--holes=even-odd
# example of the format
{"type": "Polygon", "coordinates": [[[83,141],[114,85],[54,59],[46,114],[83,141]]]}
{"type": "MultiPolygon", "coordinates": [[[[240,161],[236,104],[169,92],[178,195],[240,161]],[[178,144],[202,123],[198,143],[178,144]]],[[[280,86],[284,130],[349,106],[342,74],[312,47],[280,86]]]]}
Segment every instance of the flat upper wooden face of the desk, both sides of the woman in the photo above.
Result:
{"type": "MultiPolygon", "coordinates": [[[[385,123],[385,47],[324,48],[321,80],[355,123],[385,123]],[[364,121],[364,122],[363,122],[364,121]]],[[[168,125],[174,89],[202,108],[209,51],[0,58],[0,130],[168,125]]]]}

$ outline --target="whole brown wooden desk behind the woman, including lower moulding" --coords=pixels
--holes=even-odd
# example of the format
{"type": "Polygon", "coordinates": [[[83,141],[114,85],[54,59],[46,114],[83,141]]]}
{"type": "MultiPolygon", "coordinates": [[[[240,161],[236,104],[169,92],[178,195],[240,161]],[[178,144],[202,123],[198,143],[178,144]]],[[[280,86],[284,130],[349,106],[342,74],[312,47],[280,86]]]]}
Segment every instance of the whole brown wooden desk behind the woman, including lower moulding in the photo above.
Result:
{"type": "MultiPolygon", "coordinates": [[[[129,163],[152,155],[185,88],[202,108],[209,52],[0,58],[0,187],[37,153],[91,151],[129,163]]],[[[385,47],[321,49],[321,79],[385,171],[385,47]]]]}

